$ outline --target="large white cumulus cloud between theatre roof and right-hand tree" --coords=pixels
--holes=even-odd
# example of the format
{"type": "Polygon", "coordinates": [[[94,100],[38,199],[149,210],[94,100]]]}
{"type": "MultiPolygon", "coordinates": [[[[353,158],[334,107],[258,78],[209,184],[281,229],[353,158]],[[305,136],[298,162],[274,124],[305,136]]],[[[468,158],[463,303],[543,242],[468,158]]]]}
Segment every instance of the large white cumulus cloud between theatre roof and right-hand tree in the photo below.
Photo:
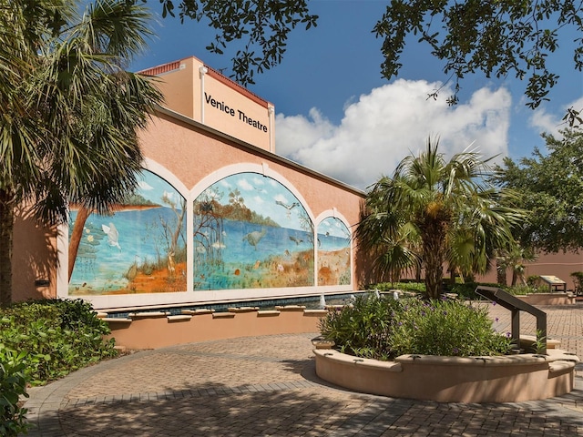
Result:
{"type": "Polygon", "coordinates": [[[448,107],[441,84],[400,79],[374,88],[344,107],[340,125],[317,108],[308,117],[276,117],[276,151],[324,175],[357,188],[366,188],[411,152],[423,149],[428,138],[439,138],[449,157],[473,143],[484,158],[506,155],[511,106],[505,88],[478,89],[465,103],[448,107]]]}

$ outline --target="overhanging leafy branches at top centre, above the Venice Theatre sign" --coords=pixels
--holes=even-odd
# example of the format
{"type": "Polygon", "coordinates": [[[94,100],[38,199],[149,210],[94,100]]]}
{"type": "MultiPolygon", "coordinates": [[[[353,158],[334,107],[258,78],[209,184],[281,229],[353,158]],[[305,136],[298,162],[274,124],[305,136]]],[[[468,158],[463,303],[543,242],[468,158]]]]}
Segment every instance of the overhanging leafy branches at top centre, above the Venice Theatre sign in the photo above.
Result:
{"type": "Polygon", "coordinates": [[[244,40],[232,58],[233,78],[241,85],[254,84],[254,72],[262,73],[281,63],[289,33],[297,25],[306,29],[317,24],[318,15],[308,11],[308,0],[160,0],[162,16],[180,21],[191,18],[208,22],[216,30],[215,40],[207,46],[222,55],[233,41],[244,40]]]}

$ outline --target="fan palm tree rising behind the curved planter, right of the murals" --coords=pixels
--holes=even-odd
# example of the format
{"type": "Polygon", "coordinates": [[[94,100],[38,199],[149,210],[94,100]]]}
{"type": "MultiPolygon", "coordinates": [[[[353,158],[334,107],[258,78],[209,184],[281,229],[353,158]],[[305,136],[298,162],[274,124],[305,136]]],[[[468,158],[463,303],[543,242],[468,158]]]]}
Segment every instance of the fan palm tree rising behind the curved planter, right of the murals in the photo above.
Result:
{"type": "Polygon", "coordinates": [[[363,249],[380,251],[377,266],[394,271],[420,263],[433,299],[441,294],[446,264],[486,272],[494,250],[510,247],[512,228],[525,219],[524,211],[501,206],[511,193],[486,182],[488,160],[466,150],[446,161],[437,147],[428,140],[419,156],[404,158],[392,178],[373,186],[356,231],[363,249]],[[395,242],[402,249],[395,250],[395,242]]]}

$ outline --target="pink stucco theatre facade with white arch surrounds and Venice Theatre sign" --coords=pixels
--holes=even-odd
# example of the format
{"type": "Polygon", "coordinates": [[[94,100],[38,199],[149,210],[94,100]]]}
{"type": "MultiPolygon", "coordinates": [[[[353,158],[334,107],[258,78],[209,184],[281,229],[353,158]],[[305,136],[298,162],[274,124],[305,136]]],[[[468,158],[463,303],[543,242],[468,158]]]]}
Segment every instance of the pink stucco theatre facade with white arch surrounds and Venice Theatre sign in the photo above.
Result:
{"type": "MultiPolygon", "coordinates": [[[[81,298],[91,301],[97,309],[111,310],[269,300],[359,290],[366,269],[363,260],[357,254],[352,237],[349,235],[346,239],[347,250],[350,251],[347,256],[348,264],[342,266],[346,271],[334,273],[332,266],[319,263],[318,249],[321,242],[315,229],[324,220],[333,219],[342,224],[347,234],[352,234],[354,226],[359,221],[364,193],[274,153],[274,110],[271,103],[220,76],[202,65],[198,59],[183,59],[166,66],[148,69],[144,73],[156,76],[154,80],[159,83],[166,101],[163,107],[159,107],[152,114],[148,127],[139,133],[139,143],[146,158],[144,168],[174,188],[177,195],[184,199],[187,208],[185,215],[187,225],[184,228],[187,232],[183,237],[187,255],[186,262],[180,265],[186,267],[175,271],[174,263],[172,262],[170,267],[169,261],[167,268],[177,277],[181,275],[179,279],[184,280],[184,286],[180,290],[169,292],[136,294],[123,291],[100,294],[90,287],[84,288],[85,283],[79,283],[76,288],[72,288],[66,271],[68,227],[42,229],[23,217],[17,220],[15,229],[14,300],[41,297],[81,298]],[[223,290],[199,289],[199,278],[204,275],[197,270],[194,261],[197,257],[197,248],[193,248],[196,241],[193,243],[191,239],[193,205],[196,205],[197,198],[213,184],[220,184],[223,179],[240,174],[264,178],[274,185],[277,184],[281,190],[287,190],[286,193],[289,193],[295,201],[288,205],[281,200],[275,203],[290,208],[288,217],[295,210],[302,208],[308,221],[312,223],[313,254],[308,254],[308,257],[312,259],[313,266],[312,269],[306,269],[302,273],[308,277],[305,283],[275,287],[264,284],[256,287],[251,284],[244,288],[230,286],[223,290]],[[342,274],[343,281],[331,285],[320,277],[324,273],[328,275],[334,273],[337,276],[342,274]],[[77,292],[72,293],[76,291],[75,289],[77,292]],[[84,294],[83,290],[90,292],[84,294]]],[[[259,191],[259,187],[255,188],[259,191]]],[[[251,193],[245,196],[251,196],[251,193]]],[[[273,204],[272,199],[271,203],[273,204]]],[[[268,213],[269,211],[266,214],[268,213]]],[[[91,242],[96,243],[93,236],[97,239],[97,231],[100,234],[99,238],[105,238],[102,241],[107,241],[107,236],[104,237],[101,228],[104,231],[109,230],[105,225],[99,225],[97,229],[85,229],[87,233],[92,232],[87,234],[90,235],[91,242]]],[[[251,242],[250,234],[253,232],[248,233],[245,238],[251,242]]],[[[87,235],[84,233],[84,238],[87,235]]],[[[294,239],[298,244],[302,241],[292,236],[290,239],[294,239]]],[[[289,240],[287,243],[293,245],[289,240]]],[[[102,246],[104,244],[102,243],[102,246]]],[[[108,253],[112,257],[134,250],[128,243],[119,244],[117,239],[113,241],[110,239],[109,246],[114,244],[118,249],[107,248],[111,250],[108,253]]],[[[219,250],[224,247],[220,241],[214,244],[219,250]]],[[[251,257],[258,257],[254,267],[261,264],[259,260],[261,249],[257,249],[254,245],[246,247],[251,257]]],[[[138,260],[139,252],[135,253],[138,260]]],[[[287,249],[285,253],[289,255],[287,249]]],[[[174,253],[171,255],[174,256],[174,253]]],[[[282,262],[277,264],[281,271],[290,269],[288,265],[284,267],[282,264],[282,262]]],[[[263,265],[265,261],[261,267],[263,265]]],[[[77,257],[76,269],[81,267],[77,257]]],[[[95,261],[91,268],[94,276],[98,275],[101,269],[95,261]]],[[[118,279],[129,280],[130,270],[131,266],[128,273],[124,274],[128,279],[121,277],[118,279]]],[[[230,276],[242,276],[243,269],[241,268],[241,273],[239,271],[240,269],[236,269],[230,276]]],[[[151,275],[152,279],[155,279],[156,273],[151,275]]],[[[136,276],[135,271],[132,276],[136,276]]]]}

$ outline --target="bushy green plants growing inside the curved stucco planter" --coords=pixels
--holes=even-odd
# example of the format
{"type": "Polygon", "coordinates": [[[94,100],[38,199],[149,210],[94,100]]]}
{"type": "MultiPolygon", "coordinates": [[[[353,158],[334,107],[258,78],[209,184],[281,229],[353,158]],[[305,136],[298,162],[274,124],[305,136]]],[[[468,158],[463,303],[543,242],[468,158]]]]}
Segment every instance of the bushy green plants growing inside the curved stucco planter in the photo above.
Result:
{"type": "Polygon", "coordinates": [[[378,360],[411,353],[498,355],[511,346],[511,339],[492,329],[485,308],[458,300],[362,296],[329,311],[320,330],[340,351],[378,360]]]}

